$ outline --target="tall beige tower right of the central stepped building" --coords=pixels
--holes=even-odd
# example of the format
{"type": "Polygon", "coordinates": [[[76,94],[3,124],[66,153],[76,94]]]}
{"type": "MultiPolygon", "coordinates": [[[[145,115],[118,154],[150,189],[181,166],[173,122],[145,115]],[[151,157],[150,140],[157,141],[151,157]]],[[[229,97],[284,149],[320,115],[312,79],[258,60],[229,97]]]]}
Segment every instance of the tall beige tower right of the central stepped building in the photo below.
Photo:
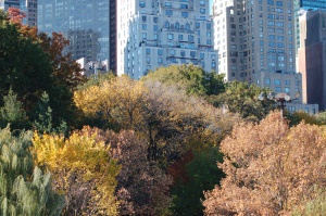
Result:
{"type": "Polygon", "coordinates": [[[293,15],[290,0],[214,0],[218,73],[294,98],[301,75],[296,74],[293,15]]]}

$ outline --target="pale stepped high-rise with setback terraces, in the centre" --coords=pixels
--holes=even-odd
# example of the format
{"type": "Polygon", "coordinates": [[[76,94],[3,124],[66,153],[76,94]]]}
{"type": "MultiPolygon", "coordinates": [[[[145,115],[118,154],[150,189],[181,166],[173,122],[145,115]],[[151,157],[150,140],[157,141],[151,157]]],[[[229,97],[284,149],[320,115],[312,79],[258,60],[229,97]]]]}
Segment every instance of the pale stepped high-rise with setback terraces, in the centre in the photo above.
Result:
{"type": "Polygon", "coordinates": [[[209,0],[120,0],[117,74],[140,78],[171,64],[217,69],[209,0]]]}

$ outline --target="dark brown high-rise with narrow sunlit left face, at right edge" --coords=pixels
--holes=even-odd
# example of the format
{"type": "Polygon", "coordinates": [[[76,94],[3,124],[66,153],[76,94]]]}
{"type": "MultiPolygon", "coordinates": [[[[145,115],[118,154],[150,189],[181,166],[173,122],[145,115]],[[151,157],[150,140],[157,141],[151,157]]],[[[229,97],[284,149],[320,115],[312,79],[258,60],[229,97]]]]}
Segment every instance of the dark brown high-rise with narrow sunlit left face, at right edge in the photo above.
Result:
{"type": "Polygon", "coordinates": [[[303,102],[326,110],[326,11],[306,11],[300,16],[299,72],[303,102]]]}

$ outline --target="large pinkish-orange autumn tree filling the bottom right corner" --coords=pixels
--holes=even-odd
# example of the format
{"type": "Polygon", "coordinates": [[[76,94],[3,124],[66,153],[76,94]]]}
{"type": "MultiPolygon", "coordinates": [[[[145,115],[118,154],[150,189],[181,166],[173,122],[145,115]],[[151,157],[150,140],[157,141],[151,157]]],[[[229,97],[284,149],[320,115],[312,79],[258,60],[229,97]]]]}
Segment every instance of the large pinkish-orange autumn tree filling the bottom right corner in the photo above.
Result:
{"type": "Polygon", "coordinates": [[[226,178],[205,193],[205,215],[290,214],[325,189],[325,143],[324,127],[289,128],[279,113],[239,124],[221,144],[226,178]]]}

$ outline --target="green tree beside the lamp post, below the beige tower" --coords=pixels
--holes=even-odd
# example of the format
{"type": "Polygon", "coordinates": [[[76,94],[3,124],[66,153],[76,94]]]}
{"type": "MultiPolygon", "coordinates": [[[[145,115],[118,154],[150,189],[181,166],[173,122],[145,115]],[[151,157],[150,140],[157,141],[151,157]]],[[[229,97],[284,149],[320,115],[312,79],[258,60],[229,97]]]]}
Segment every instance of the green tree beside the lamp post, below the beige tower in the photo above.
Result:
{"type": "Polygon", "coordinates": [[[233,113],[239,113],[242,118],[260,120],[276,107],[273,100],[259,100],[259,94],[267,96],[268,89],[247,82],[231,81],[226,91],[215,98],[216,106],[226,106],[233,113]]]}

